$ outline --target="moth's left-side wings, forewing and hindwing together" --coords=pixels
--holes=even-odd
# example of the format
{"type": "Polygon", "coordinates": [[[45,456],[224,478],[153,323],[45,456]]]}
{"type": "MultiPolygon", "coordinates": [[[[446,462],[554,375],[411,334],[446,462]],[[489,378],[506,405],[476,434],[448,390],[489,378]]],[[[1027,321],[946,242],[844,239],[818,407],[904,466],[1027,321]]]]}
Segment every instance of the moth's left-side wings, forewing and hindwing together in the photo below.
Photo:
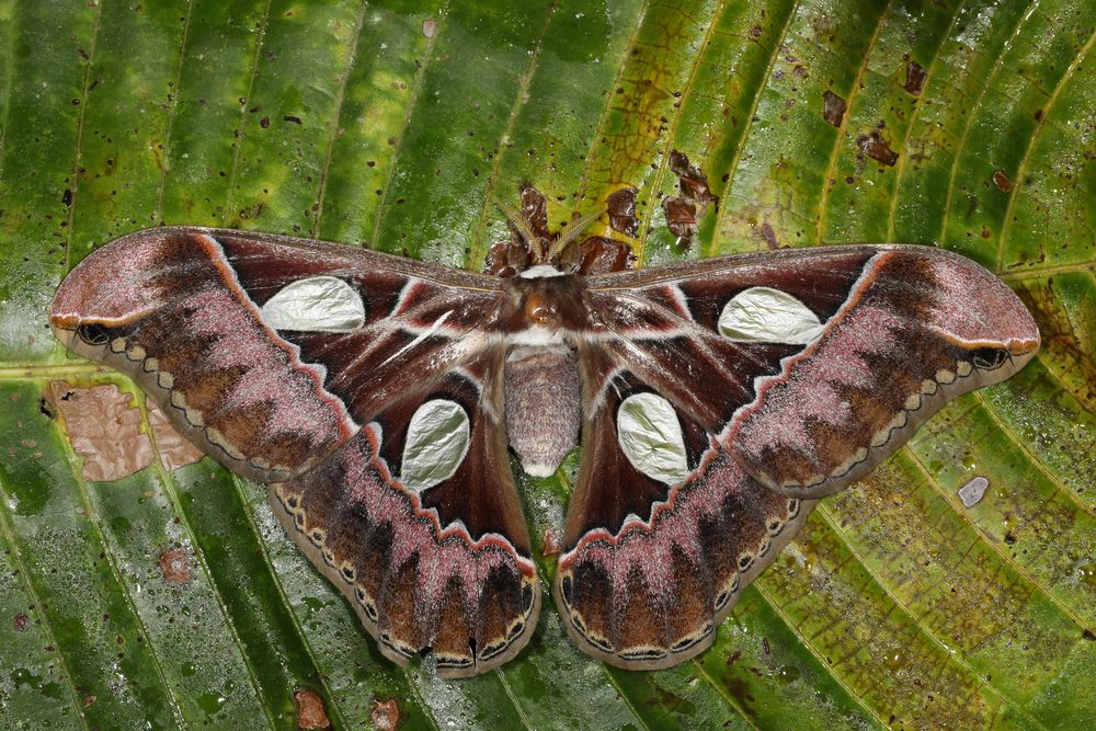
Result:
{"type": "Polygon", "coordinates": [[[351,247],[160,228],[92,253],[50,310],[192,442],[272,484],[287,530],[397,662],[470,675],[539,590],[506,455],[499,281],[351,247]]]}

